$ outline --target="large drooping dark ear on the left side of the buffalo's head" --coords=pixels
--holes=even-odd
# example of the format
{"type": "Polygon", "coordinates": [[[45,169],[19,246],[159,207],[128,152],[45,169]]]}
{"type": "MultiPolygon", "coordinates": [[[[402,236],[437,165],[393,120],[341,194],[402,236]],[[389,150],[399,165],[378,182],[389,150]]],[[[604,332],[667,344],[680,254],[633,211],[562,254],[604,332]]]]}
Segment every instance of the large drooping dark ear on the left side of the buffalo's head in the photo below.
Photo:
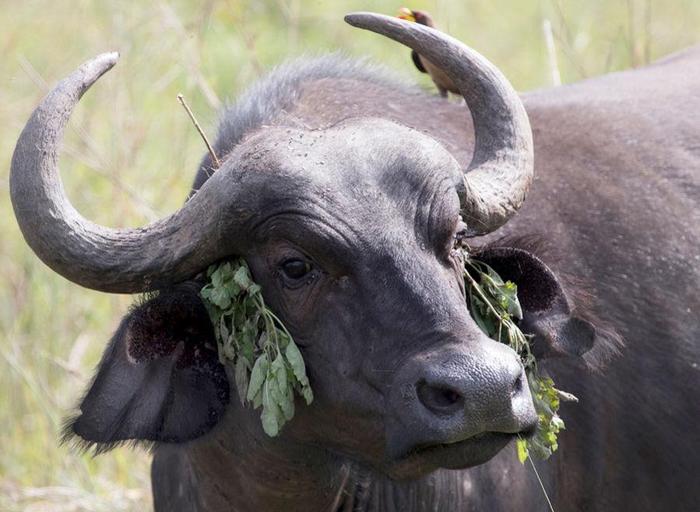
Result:
{"type": "Polygon", "coordinates": [[[199,288],[162,290],[124,317],[64,438],[100,452],[130,440],[181,443],[216,425],[230,391],[199,288]]]}

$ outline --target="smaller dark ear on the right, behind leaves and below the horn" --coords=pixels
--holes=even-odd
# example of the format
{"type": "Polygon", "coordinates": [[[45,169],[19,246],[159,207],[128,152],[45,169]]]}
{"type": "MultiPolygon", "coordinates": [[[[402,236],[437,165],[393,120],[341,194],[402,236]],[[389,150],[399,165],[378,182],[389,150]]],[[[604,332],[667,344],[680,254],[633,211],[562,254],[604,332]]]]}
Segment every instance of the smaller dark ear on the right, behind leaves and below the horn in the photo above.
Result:
{"type": "Polygon", "coordinates": [[[475,258],[518,286],[523,309],[519,326],[534,336],[535,357],[582,356],[593,347],[595,328],[572,313],[559,279],[542,260],[513,247],[487,248],[475,258]]]}

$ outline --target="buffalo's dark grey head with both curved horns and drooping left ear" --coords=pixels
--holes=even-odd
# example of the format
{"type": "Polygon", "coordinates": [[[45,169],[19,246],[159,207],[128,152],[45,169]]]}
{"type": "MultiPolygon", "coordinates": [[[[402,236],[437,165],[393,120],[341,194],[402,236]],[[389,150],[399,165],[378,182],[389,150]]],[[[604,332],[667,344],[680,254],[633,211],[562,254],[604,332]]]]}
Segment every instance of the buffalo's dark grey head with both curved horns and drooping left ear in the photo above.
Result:
{"type": "Polygon", "coordinates": [[[386,119],[319,130],[272,123],[247,134],[176,213],[110,229],[73,208],[56,161],[75,104],[117,55],[59,83],[27,123],[11,193],[37,255],[96,290],[164,290],[115,335],[74,424],[88,441],[183,441],[219,421],[229,384],[196,278],[235,256],[307,362],[316,400],[298,408],[288,441],[404,476],[484,462],[534,428],[522,365],[471,319],[455,250],[505,223],[525,197],[533,157],[524,109],[493,65],[444,34],[371,14],[347,21],[410,46],[459,87],[475,128],[467,169],[436,140],[386,119]]]}

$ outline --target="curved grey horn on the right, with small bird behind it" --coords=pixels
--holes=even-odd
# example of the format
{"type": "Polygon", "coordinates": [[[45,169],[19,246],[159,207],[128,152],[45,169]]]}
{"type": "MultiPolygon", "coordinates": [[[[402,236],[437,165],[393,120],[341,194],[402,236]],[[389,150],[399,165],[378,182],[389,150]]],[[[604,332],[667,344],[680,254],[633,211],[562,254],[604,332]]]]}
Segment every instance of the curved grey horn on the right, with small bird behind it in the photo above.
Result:
{"type": "Polygon", "coordinates": [[[474,121],[474,155],[458,184],[471,236],[505,224],[533,177],[530,123],[518,94],[483,56],[438,30],[390,16],[353,13],[350,25],[394,39],[440,67],[457,85],[474,121]]]}

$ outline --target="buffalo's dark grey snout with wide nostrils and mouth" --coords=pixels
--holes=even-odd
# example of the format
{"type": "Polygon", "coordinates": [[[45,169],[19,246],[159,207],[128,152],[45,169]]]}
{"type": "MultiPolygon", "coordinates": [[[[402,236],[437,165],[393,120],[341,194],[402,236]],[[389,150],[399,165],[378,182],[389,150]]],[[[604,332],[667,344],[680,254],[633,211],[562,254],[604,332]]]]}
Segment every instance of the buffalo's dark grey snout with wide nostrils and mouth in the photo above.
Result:
{"type": "MultiPolygon", "coordinates": [[[[529,435],[537,425],[523,365],[508,346],[489,339],[476,345],[433,349],[408,360],[390,394],[387,456],[400,459],[445,445],[474,446],[464,467],[494,455],[480,441],[497,435],[505,442],[529,435]],[[476,455],[475,455],[476,454],[476,455]],[[470,460],[476,457],[478,460],[470,460]]],[[[484,443],[493,450],[493,442],[484,443]]],[[[497,450],[496,450],[497,451],[497,450]]]]}

